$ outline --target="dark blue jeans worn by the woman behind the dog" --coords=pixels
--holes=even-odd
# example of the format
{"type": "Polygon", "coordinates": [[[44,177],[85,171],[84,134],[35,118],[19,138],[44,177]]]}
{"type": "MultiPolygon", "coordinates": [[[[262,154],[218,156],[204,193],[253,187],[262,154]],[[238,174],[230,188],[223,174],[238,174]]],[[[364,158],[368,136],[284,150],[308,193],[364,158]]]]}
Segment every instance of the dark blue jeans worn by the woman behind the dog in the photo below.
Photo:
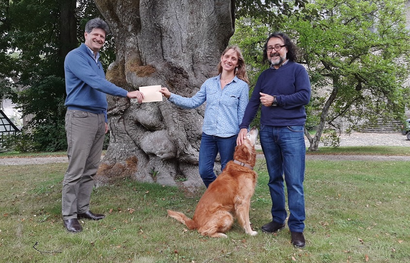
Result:
{"type": "Polygon", "coordinates": [[[221,171],[225,165],[233,160],[233,152],[236,147],[236,137],[218,137],[208,135],[202,132],[201,146],[199,147],[199,175],[202,178],[205,186],[208,188],[209,184],[215,181],[216,176],[213,172],[213,164],[218,154],[221,156],[221,171]]]}

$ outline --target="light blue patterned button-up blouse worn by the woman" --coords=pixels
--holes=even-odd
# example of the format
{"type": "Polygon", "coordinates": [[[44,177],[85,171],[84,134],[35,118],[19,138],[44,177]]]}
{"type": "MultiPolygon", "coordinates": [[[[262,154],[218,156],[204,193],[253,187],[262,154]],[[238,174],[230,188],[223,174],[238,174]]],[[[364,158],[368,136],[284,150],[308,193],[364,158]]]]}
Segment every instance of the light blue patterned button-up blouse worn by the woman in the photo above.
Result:
{"type": "Polygon", "coordinates": [[[206,101],[202,131],[208,135],[230,137],[239,133],[249,101],[249,86],[237,76],[221,89],[220,75],[206,80],[192,98],[171,93],[168,99],[184,109],[194,109],[206,101]]]}

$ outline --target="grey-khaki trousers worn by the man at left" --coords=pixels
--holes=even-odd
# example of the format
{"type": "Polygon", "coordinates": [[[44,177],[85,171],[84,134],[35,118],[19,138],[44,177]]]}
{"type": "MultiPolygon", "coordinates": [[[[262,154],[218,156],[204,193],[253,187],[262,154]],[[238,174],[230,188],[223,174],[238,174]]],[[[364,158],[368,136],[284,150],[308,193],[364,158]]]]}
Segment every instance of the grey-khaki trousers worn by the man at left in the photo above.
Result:
{"type": "Polygon", "coordinates": [[[94,176],[101,160],[105,135],[104,114],[68,110],[66,113],[68,168],[63,180],[63,219],[90,210],[94,176]]]}

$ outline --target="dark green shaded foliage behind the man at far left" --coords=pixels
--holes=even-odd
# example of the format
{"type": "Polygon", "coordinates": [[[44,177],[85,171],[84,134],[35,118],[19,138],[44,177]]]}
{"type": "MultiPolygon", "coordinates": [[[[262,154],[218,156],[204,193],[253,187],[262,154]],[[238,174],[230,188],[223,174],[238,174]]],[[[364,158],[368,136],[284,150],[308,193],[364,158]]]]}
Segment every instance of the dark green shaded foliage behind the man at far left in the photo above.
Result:
{"type": "MultiPolygon", "coordinates": [[[[0,99],[12,98],[24,115],[33,114],[26,127],[33,134],[33,150],[64,149],[64,52],[69,51],[65,46],[78,47],[84,39],[85,23],[101,15],[92,0],[68,5],[60,0],[14,0],[1,1],[0,6],[0,79],[12,78],[15,82],[0,81],[0,99]],[[63,12],[76,15],[74,43],[63,43],[62,26],[69,26],[62,21],[63,12]]],[[[106,68],[113,60],[115,49],[109,36],[101,63],[106,68]]]]}

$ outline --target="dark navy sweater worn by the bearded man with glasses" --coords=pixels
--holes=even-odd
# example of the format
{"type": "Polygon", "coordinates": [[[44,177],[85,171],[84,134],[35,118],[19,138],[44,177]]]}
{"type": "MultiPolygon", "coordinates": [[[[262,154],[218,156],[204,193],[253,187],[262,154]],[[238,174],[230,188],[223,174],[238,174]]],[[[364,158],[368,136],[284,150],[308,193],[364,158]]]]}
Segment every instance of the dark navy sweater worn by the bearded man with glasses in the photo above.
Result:
{"type": "Polygon", "coordinates": [[[262,105],[261,125],[296,126],[306,122],[305,106],[311,98],[311,83],[305,67],[289,61],[278,69],[264,70],[246,106],[240,129],[248,128],[261,104],[259,93],[276,96],[277,107],[262,105]]]}

